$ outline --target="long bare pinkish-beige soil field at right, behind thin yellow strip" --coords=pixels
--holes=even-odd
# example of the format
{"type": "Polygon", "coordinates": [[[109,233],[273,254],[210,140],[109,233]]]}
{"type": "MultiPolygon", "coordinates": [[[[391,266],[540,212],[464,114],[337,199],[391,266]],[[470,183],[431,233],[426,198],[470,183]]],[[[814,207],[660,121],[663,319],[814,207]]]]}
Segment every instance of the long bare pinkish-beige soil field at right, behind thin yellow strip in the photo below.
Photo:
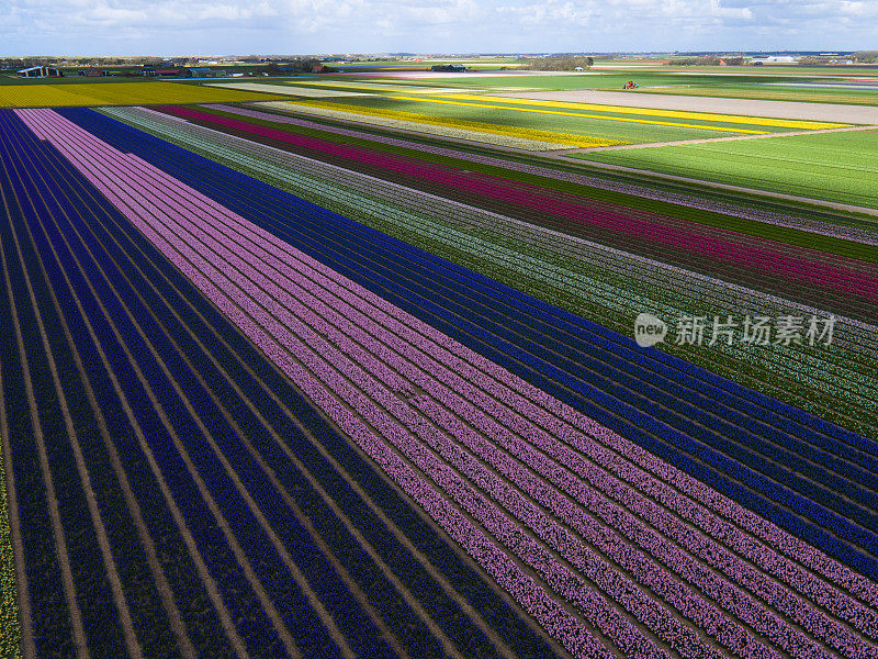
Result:
{"type": "Polygon", "coordinates": [[[795,101],[763,101],[754,99],[720,99],[714,97],[674,96],[667,93],[638,93],[628,91],[570,90],[527,91],[491,94],[541,101],[599,103],[628,105],[656,110],[688,112],[718,112],[778,119],[832,121],[838,123],[878,124],[878,107],[843,105],[836,103],[802,103],[795,101]]]}

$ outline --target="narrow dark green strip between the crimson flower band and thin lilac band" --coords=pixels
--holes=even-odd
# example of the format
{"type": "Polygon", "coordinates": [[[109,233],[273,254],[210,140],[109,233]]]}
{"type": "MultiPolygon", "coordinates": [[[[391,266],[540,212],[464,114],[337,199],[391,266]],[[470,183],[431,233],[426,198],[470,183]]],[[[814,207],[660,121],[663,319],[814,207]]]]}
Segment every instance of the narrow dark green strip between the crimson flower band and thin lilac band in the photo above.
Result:
{"type": "MultiPolygon", "coordinates": [[[[735,231],[755,237],[776,241],[779,243],[787,243],[789,245],[796,245],[798,247],[817,249],[820,252],[825,252],[828,254],[836,254],[838,256],[846,256],[849,258],[855,258],[868,263],[878,263],[878,247],[873,245],[864,245],[860,243],[855,243],[853,241],[846,241],[844,238],[824,236],[796,228],[765,224],[762,222],[756,222],[744,217],[734,217],[730,215],[723,215],[721,213],[714,213],[711,211],[703,211],[700,209],[680,206],[671,202],[643,199],[632,194],[626,194],[622,192],[614,192],[610,190],[589,188],[578,183],[560,181],[556,179],[550,179],[547,177],[537,176],[532,174],[505,169],[493,165],[482,165],[480,163],[472,163],[470,160],[462,160],[459,158],[451,158],[448,156],[430,154],[418,149],[410,149],[395,145],[381,144],[378,142],[372,142],[359,137],[348,137],[344,135],[337,135],[335,133],[317,131],[314,129],[294,126],[291,124],[275,123],[266,120],[245,118],[237,114],[232,114],[207,108],[205,108],[204,110],[222,116],[228,116],[232,119],[248,121],[257,125],[263,125],[271,129],[283,130],[289,133],[317,137],[319,139],[325,139],[327,142],[334,142],[339,144],[351,144],[354,146],[364,146],[373,148],[375,150],[383,150],[396,155],[415,157],[429,163],[448,165],[450,167],[457,167],[460,169],[475,171],[479,174],[506,178],[517,182],[545,188],[548,190],[566,192],[586,199],[594,199],[596,201],[612,203],[621,208],[631,208],[651,213],[656,213],[660,215],[668,215],[671,217],[677,217],[680,220],[686,220],[689,222],[695,222],[707,226],[728,228],[731,231],[735,231]]],[[[610,152],[604,152],[604,153],[610,153],[610,152]]]]}

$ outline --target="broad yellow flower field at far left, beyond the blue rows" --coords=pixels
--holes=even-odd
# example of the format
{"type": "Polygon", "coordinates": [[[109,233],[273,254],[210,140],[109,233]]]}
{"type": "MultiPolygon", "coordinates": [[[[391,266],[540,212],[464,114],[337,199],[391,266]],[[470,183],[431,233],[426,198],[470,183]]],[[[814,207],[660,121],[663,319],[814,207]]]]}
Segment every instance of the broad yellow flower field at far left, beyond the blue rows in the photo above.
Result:
{"type": "Polygon", "coordinates": [[[0,85],[0,108],[234,103],[282,98],[289,97],[164,81],[0,85]]]}

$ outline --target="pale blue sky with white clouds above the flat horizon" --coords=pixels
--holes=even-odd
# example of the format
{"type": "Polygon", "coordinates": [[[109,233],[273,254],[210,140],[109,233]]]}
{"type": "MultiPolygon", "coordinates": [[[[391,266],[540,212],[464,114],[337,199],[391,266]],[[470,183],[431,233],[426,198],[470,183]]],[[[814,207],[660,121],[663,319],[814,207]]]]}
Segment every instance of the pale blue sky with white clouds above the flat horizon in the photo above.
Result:
{"type": "Polygon", "coordinates": [[[0,0],[0,55],[878,49],[878,0],[0,0]]]}

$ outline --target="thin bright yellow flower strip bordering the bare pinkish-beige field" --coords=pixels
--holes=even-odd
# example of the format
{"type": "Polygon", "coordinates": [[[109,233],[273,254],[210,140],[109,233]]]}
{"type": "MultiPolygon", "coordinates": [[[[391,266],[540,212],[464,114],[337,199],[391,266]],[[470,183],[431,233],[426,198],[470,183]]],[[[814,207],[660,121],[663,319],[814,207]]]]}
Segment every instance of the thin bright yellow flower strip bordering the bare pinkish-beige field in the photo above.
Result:
{"type": "Polygon", "coordinates": [[[851,124],[830,123],[821,121],[793,120],[793,119],[769,119],[765,116],[745,116],[741,114],[712,114],[710,112],[684,112],[680,110],[654,110],[651,108],[631,108],[628,105],[600,105],[597,103],[571,103],[566,101],[542,101],[538,99],[513,99],[498,97],[484,97],[470,93],[450,93],[443,99],[460,101],[485,101],[491,100],[496,103],[510,103],[519,105],[541,105],[549,108],[562,108],[567,110],[590,110],[597,112],[618,112],[623,114],[642,114],[644,116],[667,116],[668,119],[700,119],[702,121],[718,121],[721,123],[740,123],[754,126],[774,126],[778,129],[801,129],[824,130],[843,129],[851,124]]]}

